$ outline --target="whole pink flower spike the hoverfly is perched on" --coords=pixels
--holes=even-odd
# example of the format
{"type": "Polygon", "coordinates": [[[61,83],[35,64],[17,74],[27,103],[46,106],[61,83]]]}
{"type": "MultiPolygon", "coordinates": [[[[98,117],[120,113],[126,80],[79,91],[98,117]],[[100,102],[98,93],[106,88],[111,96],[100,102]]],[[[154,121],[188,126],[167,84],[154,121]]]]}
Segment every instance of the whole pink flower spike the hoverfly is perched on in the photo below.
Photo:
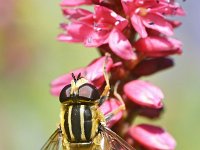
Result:
{"type": "MultiPolygon", "coordinates": [[[[173,66],[168,56],[181,54],[181,42],[169,37],[181,23],[167,18],[184,15],[181,6],[175,0],[62,0],[61,8],[68,22],[61,24],[63,33],[58,40],[97,47],[101,54],[88,66],[72,72],[81,73],[102,91],[106,61],[111,87],[120,81],[118,92],[126,113],[123,116],[120,112],[108,126],[136,149],[175,149],[175,140],[161,127],[132,123],[137,116],[158,118],[164,108],[162,91],[138,78],[173,66]],[[93,6],[94,11],[82,5],[93,6]],[[110,54],[108,59],[105,53],[110,54]]],[[[58,96],[70,84],[72,72],[52,81],[53,95],[58,96]]],[[[101,110],[106,114],[119,105],[111,93],[101,110]]]]}

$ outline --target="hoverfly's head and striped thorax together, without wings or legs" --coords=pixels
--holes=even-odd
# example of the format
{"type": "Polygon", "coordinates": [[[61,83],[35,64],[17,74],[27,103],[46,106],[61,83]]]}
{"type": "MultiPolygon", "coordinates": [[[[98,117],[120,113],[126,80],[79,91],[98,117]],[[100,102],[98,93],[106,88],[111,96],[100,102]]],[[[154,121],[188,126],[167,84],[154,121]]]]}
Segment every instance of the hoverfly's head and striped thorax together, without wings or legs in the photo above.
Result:
{"type": "Polygon", "coordinates": [[[90,143],[105,117],[99,110],[100,94],[85,78],[74,78],[60,94],[63,143],[90,143]]]}

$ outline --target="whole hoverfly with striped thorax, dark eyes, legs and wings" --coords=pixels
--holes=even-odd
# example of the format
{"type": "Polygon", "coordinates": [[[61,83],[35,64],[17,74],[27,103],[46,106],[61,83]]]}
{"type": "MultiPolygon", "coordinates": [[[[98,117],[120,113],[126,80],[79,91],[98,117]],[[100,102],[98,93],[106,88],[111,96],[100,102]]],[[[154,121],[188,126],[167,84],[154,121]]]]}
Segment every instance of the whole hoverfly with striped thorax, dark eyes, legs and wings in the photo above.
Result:
{"type": "Polygon", "coordinates": [[[99,106],[108,98],[110,85],[104,72],[106,86],[100,95],[97,88],[90,84],[81,74],[71,84],[66,85],[60,93],[60,125],[44,144],[41,150],[134,150],[115,132],[106,127],[122,105],[107,115],[103,115],[99,106]]]}

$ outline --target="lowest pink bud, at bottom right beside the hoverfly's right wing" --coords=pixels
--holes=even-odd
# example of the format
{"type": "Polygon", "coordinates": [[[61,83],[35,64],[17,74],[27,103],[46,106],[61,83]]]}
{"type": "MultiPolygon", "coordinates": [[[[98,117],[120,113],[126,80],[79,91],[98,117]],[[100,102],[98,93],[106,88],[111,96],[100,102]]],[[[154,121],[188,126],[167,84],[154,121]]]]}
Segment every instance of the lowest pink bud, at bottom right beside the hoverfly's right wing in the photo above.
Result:
{"type": "Polygon", "coordinates": [[[147,149],[174,150],[176,147],[174,138],[158,126],[140,124],[131,127],[128,134],[147,149]]]}

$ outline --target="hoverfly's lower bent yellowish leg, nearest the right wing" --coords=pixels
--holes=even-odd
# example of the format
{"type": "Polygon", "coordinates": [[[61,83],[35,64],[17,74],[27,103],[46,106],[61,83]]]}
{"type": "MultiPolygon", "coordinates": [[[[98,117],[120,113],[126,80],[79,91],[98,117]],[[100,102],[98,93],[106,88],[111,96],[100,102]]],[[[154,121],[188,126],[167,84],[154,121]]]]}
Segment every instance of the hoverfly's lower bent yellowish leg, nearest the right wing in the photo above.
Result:
{"type": "Polygon", "coordinates": [[[123,111],[126,109],[125,107],[125,104],[124,104],[124,101],[121,97],[121,95],[119,93],[117,93],[117,87],[119,86],[119,81],[115,84],[115,87],[114,87],[114,96],[120,101],[121,105],[114,109],[113,111],[111,111],[110,113],[108,113],[106,116],[105,116],[105,119],[106,119],[106,122],[108,122],[113,116],[115,116],[116,114],[118,114],[120,111],[123,111]]]}

